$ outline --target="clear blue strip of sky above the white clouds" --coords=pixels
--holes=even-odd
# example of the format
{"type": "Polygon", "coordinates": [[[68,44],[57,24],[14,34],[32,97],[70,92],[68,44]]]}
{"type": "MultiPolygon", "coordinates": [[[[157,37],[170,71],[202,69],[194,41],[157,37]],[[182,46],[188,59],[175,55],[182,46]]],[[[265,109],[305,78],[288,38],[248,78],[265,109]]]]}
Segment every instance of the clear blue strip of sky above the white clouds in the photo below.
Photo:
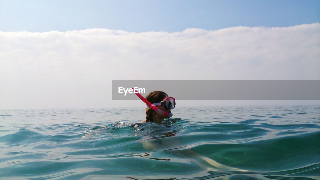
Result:
{"type": "Polygon", "coordinates": [[[65,32],[90,28],[130,32],[288,27],[320,21],[320,1],[0,0],[0,31],[65,32]]]}

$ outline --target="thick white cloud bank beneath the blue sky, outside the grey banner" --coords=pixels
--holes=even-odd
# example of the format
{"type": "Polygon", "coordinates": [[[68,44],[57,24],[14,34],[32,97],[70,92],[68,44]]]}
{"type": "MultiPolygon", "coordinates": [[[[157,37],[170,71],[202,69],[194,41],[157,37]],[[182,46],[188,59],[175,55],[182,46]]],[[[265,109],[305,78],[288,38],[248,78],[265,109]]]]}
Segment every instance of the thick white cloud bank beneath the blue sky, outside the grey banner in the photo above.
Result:
{"type": "Polygon", "coordinates": [[[1,109],[112,107],[119,102],[111,101],[111,80],[319,80],[319,70],[319,23],[172,33],[0,31],[1,109]]]}

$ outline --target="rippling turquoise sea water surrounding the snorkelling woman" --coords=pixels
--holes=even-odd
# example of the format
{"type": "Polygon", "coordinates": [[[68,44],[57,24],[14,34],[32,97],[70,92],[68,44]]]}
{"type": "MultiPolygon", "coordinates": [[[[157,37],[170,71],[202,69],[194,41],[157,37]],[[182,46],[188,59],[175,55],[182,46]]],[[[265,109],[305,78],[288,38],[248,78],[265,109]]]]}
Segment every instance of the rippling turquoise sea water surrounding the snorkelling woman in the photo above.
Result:
{"type": "Polygon", "coordinates": [[[320,179],[319,106],[0,110],[0,179],[320,179]]]}

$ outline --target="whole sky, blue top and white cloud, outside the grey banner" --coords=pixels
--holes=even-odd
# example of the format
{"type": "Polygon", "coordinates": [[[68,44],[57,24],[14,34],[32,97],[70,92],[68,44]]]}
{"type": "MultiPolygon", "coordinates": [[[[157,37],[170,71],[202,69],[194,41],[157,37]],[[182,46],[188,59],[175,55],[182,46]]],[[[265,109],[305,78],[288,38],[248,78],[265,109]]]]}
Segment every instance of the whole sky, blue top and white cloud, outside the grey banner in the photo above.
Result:
{"type": "MultiPolygon", "coordinates": [[[[112,80],[320,80],[319,7],[0,0],[0,109],[144,106],[112,101],[112,80]]],[[[181,105],[281,103],[319,101],[181,105]]]]}

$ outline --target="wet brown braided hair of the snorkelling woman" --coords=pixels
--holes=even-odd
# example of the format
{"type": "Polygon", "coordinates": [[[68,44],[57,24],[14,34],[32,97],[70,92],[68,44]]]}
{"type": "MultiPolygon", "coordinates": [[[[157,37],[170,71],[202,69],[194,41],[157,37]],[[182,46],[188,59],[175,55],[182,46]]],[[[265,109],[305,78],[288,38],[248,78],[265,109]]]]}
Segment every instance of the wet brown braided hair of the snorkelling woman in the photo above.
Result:
{"type": "MultiPolygon", "coordinates": [[[[169,97],[168,94],[163,91],[153,91],[146,96],[146,100],[148,100],[151,104],[153,104],[156,102],[161,102],[167,97],[169,97]]],[[[151,108],[146,109],[146,121],[147,122],[148,121],[152,122],[152,111],[153,110],[151,108]]]]}

